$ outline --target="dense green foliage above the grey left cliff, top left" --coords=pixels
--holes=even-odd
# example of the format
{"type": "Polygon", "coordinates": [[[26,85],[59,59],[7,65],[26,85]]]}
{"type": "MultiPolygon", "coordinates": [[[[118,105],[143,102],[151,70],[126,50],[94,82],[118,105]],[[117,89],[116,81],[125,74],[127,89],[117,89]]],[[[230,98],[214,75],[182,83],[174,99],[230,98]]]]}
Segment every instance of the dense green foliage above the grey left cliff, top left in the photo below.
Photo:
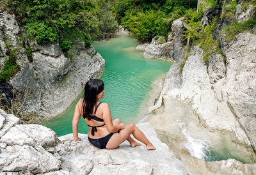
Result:
{"type": "Polygon", "coordinates": [[[117,23],[113,15],[103,11],[106,6],[111,6],[110,2],[2,0],[1,6],[9,13],[15,13],[20,25],[26,28],[26,36],[35,38],[39,44],[60,42],[61,49],[68,52],[73,43],[84,42],[85,47],[90,47],[91,40],[100,39],[102,33],[115,33],[117,23]],[[105,18],[102,20],[102,17],[105,18]],[[104,31],[100,31],[100,24],[104,24],[104,31]]]}

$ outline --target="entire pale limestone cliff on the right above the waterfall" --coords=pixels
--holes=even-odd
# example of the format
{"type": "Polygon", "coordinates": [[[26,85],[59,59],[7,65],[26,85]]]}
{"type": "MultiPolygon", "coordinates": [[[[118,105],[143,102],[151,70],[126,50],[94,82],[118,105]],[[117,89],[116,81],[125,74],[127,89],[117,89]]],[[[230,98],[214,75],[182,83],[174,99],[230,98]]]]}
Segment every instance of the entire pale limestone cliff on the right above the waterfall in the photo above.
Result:
{"type": "MultiPolygon", "coordinates": [[[[241,6],[243,4],[236,6],[238,22],[252,18],[256,13],[256,8],[251,5],[246,7],[246,11],[241,11],[241,6]]],[[[205,11],[205,22],[210,16],[211,10],[205,11]]],[[[174,38],[179,38],[179,33],[182,33],[175,32],[177,23],[173,22],[174,38]]],[[[220,24],[225,27],[223,22],[220,24]]],[[[178,26],[182,26],[181,21],[178,26]]],[[[182,30],[181,27],[179,29],[182,30]]],[[[253,127],[256,119],[256,36],[244,32],[232,42],[227,42],[225,34],[218,31],[216,37],[220,37],[217,39],[220,40],[221,54],[211,54],[205,65],[202,61],[204,50],[193,47],[183,68],[180,63],[170,68],[159,100],[149,110],[161,107],[165,96],[178,98],[180,102],[188,103],[204,125],[236,133],[239,141],[252,146],[256,152],[256,130],[253,127]]],[[[174,49],[176,40],[172,41],[173,51],[177,52],[174,49]]]]}

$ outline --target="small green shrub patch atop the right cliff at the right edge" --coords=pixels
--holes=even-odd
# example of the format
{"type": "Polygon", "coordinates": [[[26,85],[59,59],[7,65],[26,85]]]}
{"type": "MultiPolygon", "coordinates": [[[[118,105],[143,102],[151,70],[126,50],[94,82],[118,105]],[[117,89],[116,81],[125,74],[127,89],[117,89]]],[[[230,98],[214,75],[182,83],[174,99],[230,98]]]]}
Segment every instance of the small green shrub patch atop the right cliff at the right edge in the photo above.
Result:
{"type": "Polygon", "coordinates": [[[235,22],[234,24],[231,24],[227,27],[227,29],[224,30],[225,38],[228,42],[234,40],[236,38],[236,35],[246,31],[248,29],[252,29],[254,26],[256,26],[256,21],[249,19],[244,22],[235,22]]]}

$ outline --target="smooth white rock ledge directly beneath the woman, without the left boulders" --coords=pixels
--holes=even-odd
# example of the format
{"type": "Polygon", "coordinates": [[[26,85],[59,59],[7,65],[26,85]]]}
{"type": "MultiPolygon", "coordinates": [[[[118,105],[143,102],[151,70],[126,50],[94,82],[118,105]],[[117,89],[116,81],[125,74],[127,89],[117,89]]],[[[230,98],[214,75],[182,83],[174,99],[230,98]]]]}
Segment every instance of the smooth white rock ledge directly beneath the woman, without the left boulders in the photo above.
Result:
{"type": "MultiPolygon", "coordinates": [[[[157,138],[157,134],[148,123],[137,125],[140,130],[145,133],[147,138],[156,146],[156,151],[148,151],[145,145],[131,148],[129,142],[125,141],[117,149],[98,149],[88,142],[87,135],[79,134],[82,141],[70,142],[72,134],[59,137],[61,141],[65,141],[66,153],[63,158],[63,169],[76,169],[77,165],[83,166],[82,163],[75,160],[87,160],[93,162],[92,174],[186,174],[180,160],[175,158],[173,152],[157,138]],[[159,158],[161,156],[161,158],[159,158]],[[134,161],[132,161],[134,160],[134,161]],[[81,165],[80,165],[81,164],[81,165]],[[125,170],[125,171],[124,171],[125,170]]],[[[91,166],[86,167],[90,169],[91,166]]],[[[77,172],[80,174],[80,172],[77,172]]]]}

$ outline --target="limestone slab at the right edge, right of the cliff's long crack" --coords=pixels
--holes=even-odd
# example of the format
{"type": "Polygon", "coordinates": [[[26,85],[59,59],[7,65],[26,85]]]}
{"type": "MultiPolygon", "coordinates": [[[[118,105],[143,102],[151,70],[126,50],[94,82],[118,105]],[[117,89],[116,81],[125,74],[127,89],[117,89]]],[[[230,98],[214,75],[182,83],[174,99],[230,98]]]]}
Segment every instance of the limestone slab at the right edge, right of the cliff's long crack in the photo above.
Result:
{"type": "Polygon", "coordinates": [[[256,35],[241,33],[223,48],[227,75],[222,100],[239,121],[256,150],[256,35]]]}

